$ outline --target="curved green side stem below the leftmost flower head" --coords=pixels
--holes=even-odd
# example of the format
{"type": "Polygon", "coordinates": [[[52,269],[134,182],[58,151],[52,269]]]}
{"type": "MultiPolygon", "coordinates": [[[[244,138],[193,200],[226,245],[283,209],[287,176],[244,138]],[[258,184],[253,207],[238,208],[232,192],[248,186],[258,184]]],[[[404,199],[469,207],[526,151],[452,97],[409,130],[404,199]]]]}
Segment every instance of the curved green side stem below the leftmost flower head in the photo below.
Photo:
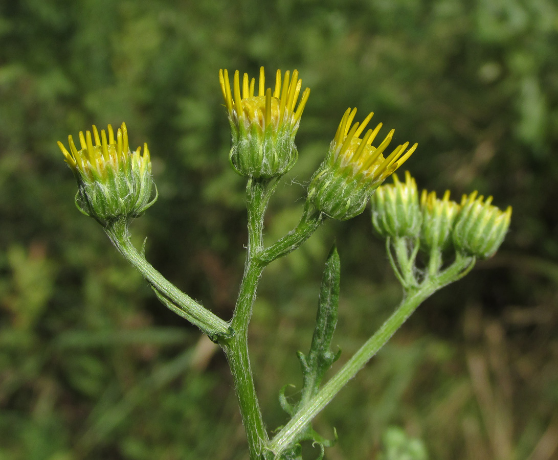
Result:
{"type": "MultiPolygon", "coordinates": [[[[169,282],[159,273],[145,257],[138,252],[130,241],[128,224],[125,220],[111,222],[105,232],[114,243],[118,251],[140,272],[148,282],[155,287],[162,296],[176,304],[176,308],[194,325],[198,326],[210,337],[218,339],[230,335],[230,327],[227,322],[211,313],[207,308],[201,306],[193,298],[187,296],[174,284],[169,282]]],[[[169,306],[169,305],[167,305],[169,306]]]]}

